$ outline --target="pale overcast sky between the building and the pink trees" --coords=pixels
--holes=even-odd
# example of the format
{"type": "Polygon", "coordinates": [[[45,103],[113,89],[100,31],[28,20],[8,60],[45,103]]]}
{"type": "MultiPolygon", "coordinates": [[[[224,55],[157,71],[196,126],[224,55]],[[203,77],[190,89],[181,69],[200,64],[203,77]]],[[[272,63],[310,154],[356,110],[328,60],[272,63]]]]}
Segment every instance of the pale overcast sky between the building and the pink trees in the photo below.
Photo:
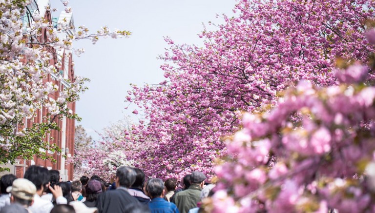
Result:
{"type": "MultiPolygon", "coordinates": [[[[100,39],[95,45],[89,40],[74,43],[84,48],[81,57],[74,56],[76,75],[88,77],[89,89],[76,104],[76,112],[86,132],[95,140],[95,133],[135,109],[125,110],[125,97],[130,83],[144,85],[164,80],[157,57],[164,53],[169,36],[177,44],[202,45],[197,34],[202,23],[222,23],[216,14],[232,16],[236,0],[70,0],[76,27],[85,25],[90,31],[101,26],[132,32],[128,39],[100,39]]],[[[51,0],[51,6],[61,5],[51,0]]],[[[55,17],[58,12],[53,14],[55,17]]]]}

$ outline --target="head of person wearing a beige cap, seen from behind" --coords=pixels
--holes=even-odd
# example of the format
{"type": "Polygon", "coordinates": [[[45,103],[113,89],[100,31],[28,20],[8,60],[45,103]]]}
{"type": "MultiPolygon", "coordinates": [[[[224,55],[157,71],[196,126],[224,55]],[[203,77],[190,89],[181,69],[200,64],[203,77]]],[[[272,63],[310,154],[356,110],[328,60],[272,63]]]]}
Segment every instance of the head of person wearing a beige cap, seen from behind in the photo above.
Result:
{"type": "Polygon", "coordinates": [[[18,178],[13,181],[12,186],[6,189],[11,194],[12,203],[18,203],[22,206],[29,207],[33,203],[34,195],[37,193],[35,185],[24,178],[18,178]]]}

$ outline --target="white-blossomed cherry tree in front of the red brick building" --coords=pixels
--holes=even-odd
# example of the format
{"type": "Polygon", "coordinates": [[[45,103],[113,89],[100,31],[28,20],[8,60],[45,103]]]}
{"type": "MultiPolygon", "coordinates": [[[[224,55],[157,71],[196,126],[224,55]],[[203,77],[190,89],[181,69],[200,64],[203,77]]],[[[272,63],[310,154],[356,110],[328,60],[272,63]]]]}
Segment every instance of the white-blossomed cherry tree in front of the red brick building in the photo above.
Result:
{"type": "MultiPolygon", "coordinates": [[[[68,1],[63,4],[65,12],[70,13],[68,1]]],[[[0,164],[33,155],[53,160],[46,150],[53,153],[60,149],[47,142],[46,136],[59,129],[57,122],[63,116],[80,119],[69,113],[68,105],[79,99],[87,79],[60,75],[62,64],[51,64],[54,57],[69,60],[68,54],[60,53],[71,50],[72,43],[79,39],[92,39],[95,43],[100,37],[130,35],[128,31],[111,32],[107,27],[93,34],[84,26],[74,31],[66,19],[55,26],[42,15],[53,9],[40,6],[34,0],[0,2],[0,164]],[[68,30],[72,33],[65,33],[68,30]],[[58,84],[62,87],[60,92],[58,84]],[[48,98],[52,94],[58,98],[48,98]],[[48,111],[42,122],[26,126],[25,118],[34,119],[42,108],[48,111]]],[[[6,169],[0,166],[0,171],[6,169]]]]}

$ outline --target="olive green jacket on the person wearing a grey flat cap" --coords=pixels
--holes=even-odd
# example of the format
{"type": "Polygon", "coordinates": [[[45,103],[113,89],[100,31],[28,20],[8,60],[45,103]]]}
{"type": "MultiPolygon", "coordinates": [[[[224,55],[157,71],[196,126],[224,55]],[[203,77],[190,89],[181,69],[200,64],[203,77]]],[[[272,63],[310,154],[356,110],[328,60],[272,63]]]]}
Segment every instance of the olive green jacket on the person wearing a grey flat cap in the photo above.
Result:
{"type": "Polygon", "coordinates": [[[187,190],[174,195],[174,203],[180,213],[187,213],[190,209],[196,208],[201,200],[202,188],[198,184],[191,184],[187,190]]]}

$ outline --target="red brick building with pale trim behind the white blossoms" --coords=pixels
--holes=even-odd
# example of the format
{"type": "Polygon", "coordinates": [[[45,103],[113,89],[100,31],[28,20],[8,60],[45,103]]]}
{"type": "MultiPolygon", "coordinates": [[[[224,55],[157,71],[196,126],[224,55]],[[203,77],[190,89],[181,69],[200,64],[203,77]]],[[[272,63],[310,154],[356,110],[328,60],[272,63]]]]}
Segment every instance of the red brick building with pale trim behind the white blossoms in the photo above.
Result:
{"type": "MultiPolygon", "coordinates": [[[[73,23],[73,16],[72,14],[67,14],[65,12],[62,12],[59,18],[53,18],[52,14],[49,10],[46,8],[50,8],[50,2],[49,0],[38,0],[31,1],[32,3],[28,6],[29,11],[34,11],[44,17],[44,19],[49,20],[50,23],[52,23],[55,27],[59,24],[64,22],[65,24],[68,24],[71,26],[69,29],[63,31],[59,37],[64,38],[67,35],[71,35],[74,33],[74,23],[73,23]]],[[[45,31],[45,29],[43,29],[45,31]]],[[[42,31],[42,35],[45,35],[45,32],[42,31]]],[[[46,37],[45,37],[46,38],[46,37]]],[[[61,67],[56,67],[59,70],[58,75],[62,75],[64,78],[68,78],[71,81],[74,80],[74,65],[72,61],[72,52],[71,50],[54,50],[53,59],[51,59],[50,64],[61,64],[61,67]]],[[[59,92],[64,87],[69,87],[69,83],[64,82],[62,80],[56,80],[58,79],[58,76],[55,75],[48,75],[47,79],[45,81],[51,81],[54,84],[59,86],[59,90],[55,92],[54,94],[51,94],[48,96],[49,99],[57,99],[59,97],[59,92]]],[[[75,103],[70,103],[68,105],[69,113],[74,114],[75,113],[75,103]]],[[[36,122],[42,122],[43,116],[46,116],[47,109],[43,108],[41,110],[37,110],[37,116],[34,117],[34,119],[25,119],[24,123],[26,126],[23,126],[22,128],[31,127],[33,123],[36,122]]],[[[67,160],[72,157],[74,154],[74,130],[75,130],[75,120],[68,119],[66,117],[60,117],[60,119],[55,119],[55,121],[58,123],[60,127],[60,131],[52,130],[49,136],[46,137],[46,141],[48,141],[51,144],[57,144],[61,149],[62,153],[50,153],[45,150],[47,155],[52,155],[53,158],[56,160],[56,163],[52,163],[50,160],[42,160],[34,156],[33,160],[23,160],[20,159],[16,164],[13,165],[7,165],[8,168],[10,168],[10,173],[16,174],[18,177],[23,177],[23,174],[28,166],[30,165],[39,165],[46,167],[47,169],[54,169],[59,170],[60,175],[63,180],[72,180],[73,179],[73,164],[68,163],[67,160]],[[52,137],[53,139],[50,139],[52,137]],[[66,155],[67,158],[65,159],[63,155],[66,155]]],[[[1,175],[1,174],[0,174],[1,175]]]]}

